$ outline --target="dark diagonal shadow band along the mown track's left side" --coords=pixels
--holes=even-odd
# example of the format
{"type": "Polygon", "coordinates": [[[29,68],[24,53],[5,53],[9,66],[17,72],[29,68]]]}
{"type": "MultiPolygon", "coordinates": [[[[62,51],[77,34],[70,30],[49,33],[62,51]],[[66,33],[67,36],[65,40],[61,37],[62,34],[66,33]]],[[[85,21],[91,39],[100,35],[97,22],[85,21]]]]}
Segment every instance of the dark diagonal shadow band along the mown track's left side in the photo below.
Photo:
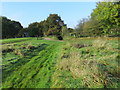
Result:
{"type": "Polygon", "coordinates": [[[10,62],[8,65],[2,66],[2,82],[4,82],[6,77],[12,72],[17,71],[20,67],[28,63],[32,57],[38,55],[38,53],[44,50],[47,46],[47,44],[41,44],[33,49],[27,50],[25,52],[25,57],[21,57],[15,62],[10,62]]]}

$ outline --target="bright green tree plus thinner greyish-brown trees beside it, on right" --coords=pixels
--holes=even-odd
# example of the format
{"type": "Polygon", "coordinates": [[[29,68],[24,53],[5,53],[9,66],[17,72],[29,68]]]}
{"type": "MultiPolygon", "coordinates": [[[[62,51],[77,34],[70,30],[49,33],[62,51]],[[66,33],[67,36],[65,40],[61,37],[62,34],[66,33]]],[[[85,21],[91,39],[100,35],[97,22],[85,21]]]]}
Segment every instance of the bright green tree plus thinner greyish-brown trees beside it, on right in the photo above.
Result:
{"type": "Polygon", "coordinates": [[[78,24],[77,36],[119,36],[119,12],[119,2],[98,2],[91,16],[78,24]]]}

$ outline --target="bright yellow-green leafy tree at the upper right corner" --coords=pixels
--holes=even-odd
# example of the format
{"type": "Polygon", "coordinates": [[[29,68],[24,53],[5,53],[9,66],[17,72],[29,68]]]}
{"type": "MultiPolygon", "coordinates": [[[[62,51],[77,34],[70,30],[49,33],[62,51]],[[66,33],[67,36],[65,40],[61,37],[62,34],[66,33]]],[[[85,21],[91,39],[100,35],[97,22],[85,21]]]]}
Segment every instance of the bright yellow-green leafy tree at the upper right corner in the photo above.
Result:
{"type": "Polygon", "coordinates": [[[120,3],[99,2],[97,3],[96,9],[94,9],[94,11],[92,12],[91,18],[98,20],[101,24],[100,28],[102,28],[103,34],[109,36],[114,32],[114,30],[116,32],[120,29],[119,12],[120,3]]]}

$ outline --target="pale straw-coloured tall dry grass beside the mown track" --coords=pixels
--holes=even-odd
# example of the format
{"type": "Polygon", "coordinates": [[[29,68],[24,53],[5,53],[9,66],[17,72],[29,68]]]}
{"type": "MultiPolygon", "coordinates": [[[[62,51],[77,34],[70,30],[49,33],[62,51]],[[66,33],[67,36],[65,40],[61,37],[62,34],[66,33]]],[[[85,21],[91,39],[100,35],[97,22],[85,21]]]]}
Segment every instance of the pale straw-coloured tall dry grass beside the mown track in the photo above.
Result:
{"type": "Polygon", "coordinates": [[[59,64],[56,65],[58,72],[54,73],[53,81],[56,83],[53,87],[64,86],[62,83],[59,83],[59,81],[65,82],[65,80],[59,78],[61,76],[60,72],[69,72],[73,79],[80,79],[79,82],[82,82],[81,85],[83,87],[118,87],[118,76],[115,77],[115,73],[118,70],[115,58],[118,55],[110,53],[112,52],[111,44],[107,40],[97,39],[93,41],[92,46],[88,45],[88,47],[76,48],[73,43],[67,43],[63,47],[61,57],[64,55],[68,55],[68,57],[62,57],[59,60],[59,64]],[[80,50],[83,50],[85,53],[82,55],[80,50]],[[86,51],[88,52],[86,53],[86,51]],[[93,53],[94,55],[91,56],[93,53]],[[102,53],[106,55],[100,56],[102,53]]]}

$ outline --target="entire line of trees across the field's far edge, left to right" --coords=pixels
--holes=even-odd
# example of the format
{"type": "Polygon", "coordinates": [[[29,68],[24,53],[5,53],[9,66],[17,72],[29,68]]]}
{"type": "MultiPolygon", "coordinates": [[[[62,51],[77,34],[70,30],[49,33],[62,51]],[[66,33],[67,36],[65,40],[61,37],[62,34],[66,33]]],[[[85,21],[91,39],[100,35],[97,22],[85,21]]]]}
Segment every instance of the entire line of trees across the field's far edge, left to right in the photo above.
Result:
{"type": "Polygon", "coordinates": [[[76,28],[67,28],[67,24],[58,14],[50,14],[46,20],[31,23],[27,28],[17,22],[1,16],[2,38],[14,37],[96,37],[120,36],[120,2],[98,2],[88,18],[80,20],[76,28]]]}

